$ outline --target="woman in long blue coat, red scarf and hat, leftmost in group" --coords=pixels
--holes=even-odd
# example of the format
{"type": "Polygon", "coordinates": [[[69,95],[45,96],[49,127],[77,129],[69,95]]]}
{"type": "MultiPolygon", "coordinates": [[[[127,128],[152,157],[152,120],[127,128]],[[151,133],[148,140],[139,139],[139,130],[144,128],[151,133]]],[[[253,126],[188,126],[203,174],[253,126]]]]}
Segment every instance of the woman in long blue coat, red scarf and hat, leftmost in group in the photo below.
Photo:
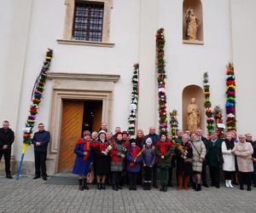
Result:
{"type": "Polygon", "coordinates": [[[90,131],[84,131],[84,138],[79,139],[74,149],[77,157],[73,165],[73,174],[79,175],[79,190],[81,191],[89,189],[86,176],[89,172],[90,164],[93,162],[92,146],[90,131]]]}

